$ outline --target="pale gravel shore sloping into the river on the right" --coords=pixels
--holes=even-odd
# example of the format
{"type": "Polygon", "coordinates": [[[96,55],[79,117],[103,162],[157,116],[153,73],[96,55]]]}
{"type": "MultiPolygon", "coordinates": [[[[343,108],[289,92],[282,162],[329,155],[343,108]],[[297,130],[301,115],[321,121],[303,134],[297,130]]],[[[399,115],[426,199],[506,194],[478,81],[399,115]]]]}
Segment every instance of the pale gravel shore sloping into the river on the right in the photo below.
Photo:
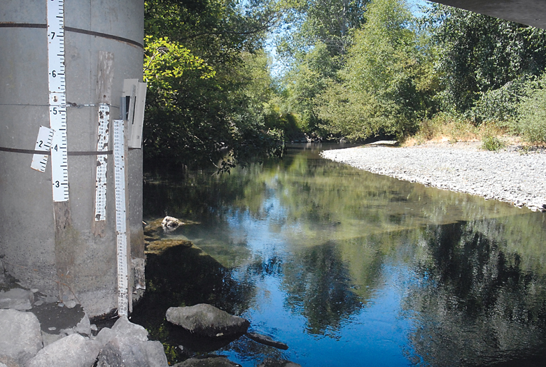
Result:
{"type": "Polygon", "coordinates": [[[477,142],[414,147],[366,145],[321,154],[380,175],[546,211],[544,149],[522,154],[517,147],[489,152],[480,146],[477,142]]]}

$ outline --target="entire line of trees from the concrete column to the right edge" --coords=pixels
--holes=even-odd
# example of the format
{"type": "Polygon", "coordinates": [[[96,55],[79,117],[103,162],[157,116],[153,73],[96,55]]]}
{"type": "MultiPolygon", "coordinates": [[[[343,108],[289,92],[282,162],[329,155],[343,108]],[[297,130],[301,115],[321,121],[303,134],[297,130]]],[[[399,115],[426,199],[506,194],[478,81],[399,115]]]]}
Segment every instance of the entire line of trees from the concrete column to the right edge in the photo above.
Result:
{"type": "Polygon", "coordinates": [[[228,171],[304,133],[405,139],[453,120],[546,142],[546,31],[419,14],[405,0],[146,1],[148,166],[228,171]]]}

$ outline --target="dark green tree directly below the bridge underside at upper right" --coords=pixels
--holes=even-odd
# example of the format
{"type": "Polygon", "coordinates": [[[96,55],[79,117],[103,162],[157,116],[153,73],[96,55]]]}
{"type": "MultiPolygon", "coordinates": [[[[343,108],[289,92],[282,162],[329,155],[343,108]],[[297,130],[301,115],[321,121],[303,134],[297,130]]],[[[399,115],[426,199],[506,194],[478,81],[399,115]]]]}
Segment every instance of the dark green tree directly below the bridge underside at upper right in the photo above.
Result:
{"type": "Polygon", "coordinates": [[[446,110],[465,113],[486,92],[509,88],[507,83],[540,75],[546,67],[543,29],[439,4],[426,14],[438,45],[437,71],[446,110]]]}

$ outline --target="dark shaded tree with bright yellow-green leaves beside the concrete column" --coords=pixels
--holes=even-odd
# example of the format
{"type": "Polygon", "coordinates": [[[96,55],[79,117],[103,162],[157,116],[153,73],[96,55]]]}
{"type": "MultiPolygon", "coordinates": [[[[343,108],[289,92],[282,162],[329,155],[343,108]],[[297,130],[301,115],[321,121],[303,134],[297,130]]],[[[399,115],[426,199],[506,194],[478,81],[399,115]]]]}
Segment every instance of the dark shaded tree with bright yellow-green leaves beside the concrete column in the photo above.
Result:
{"type": "Polygon", "coordinates": [[[244,92],[256,82],[244,55],[261,49],[275,19],[267,0],[145,2],[146,163],[227,170],[280,154],[282,134],[265,128],[262,105],[244,92]]]}

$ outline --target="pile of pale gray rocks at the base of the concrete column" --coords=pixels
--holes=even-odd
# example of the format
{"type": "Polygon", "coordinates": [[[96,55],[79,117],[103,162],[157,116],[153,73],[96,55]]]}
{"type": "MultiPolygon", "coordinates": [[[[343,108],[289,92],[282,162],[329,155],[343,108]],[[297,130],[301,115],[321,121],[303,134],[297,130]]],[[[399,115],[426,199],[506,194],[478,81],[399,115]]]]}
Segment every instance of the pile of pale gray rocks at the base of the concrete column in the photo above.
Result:
{"type": "Polygon", "coordinates": [[[69,309],[58,301],[35,298],[50,301],[26,289],[0,292],[0,367],[168,366],[163,345],[148,340],[148,331],[127,317],[94,335],[97,326],[79,305],[69,309]],[[83,317],[73,326],[50,326],[66,326],[74,315],[83,317]]]}

